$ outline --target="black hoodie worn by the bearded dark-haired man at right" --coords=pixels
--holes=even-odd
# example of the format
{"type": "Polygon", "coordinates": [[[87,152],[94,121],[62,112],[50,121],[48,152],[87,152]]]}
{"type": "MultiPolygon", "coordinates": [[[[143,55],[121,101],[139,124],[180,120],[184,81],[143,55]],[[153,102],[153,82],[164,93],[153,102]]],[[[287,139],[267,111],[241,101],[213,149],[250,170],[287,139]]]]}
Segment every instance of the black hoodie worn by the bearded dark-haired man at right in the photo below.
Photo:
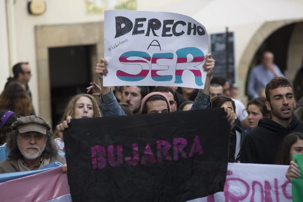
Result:
{"type": "Polygon", "coordinates": [[[241,163],[275,164],[282,139],[291,131],[303,131],[303,121],[295,115],[287,128],[269,118],[262,118],[258,127],[248,131],[241,147],[241,163]]]}

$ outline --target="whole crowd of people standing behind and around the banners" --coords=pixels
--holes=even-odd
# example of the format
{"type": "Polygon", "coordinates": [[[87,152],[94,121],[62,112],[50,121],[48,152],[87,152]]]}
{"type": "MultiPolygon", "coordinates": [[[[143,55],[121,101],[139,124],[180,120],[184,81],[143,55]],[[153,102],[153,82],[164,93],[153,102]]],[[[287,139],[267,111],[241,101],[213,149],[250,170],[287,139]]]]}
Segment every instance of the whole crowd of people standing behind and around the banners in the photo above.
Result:
{"type": "Polygon", "coordinates": [[[237,84],[212,77],[215,60],[211,54],[205,55],[204,89],[106,87],[103,77],[111,69],[102,58],[95,67],[99,84],[92,82],[87,93],[70,98],[53,133],[50,125],[35,115],[28,87],[30,66],[18,63],[0,95],[0,153],[7,153],[0,159],[0,173],[38,170],[55,161],[64,165],[66,173],[62,134],[71,119],[224,108],[231,125],[228,162],[289,165],[286,177],[291,181],[300,176],[292,154],[303,154],[303,99],[296,97],[302,94],[295,93],[270,51],[264,52],[261,61],[251,70],[247,89],[251,100],[245,106],[238,100],[237,84]],[[99,104],[92,95],[100,96],[99,104]]]}

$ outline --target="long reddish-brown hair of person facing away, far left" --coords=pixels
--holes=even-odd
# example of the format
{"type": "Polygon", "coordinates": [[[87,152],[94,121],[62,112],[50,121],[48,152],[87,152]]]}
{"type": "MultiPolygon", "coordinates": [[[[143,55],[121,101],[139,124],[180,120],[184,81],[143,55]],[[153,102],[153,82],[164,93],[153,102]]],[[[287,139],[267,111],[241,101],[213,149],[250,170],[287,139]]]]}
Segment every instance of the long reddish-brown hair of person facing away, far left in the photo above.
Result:
{"type": "Polygon", "coordinates": [[[20,116],[32,113],[32,101],[25,88],[18,81],[10,82],[0,95],[0,110],[11,110],[20,116]]]}

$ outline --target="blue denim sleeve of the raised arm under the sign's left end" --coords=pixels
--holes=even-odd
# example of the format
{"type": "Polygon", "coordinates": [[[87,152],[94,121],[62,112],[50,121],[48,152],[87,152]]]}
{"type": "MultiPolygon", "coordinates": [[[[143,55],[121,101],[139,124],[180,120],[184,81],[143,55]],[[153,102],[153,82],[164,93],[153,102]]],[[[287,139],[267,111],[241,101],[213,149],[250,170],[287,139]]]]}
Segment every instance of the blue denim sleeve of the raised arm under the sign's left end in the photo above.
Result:
{"type": "Polygon", "coordinates": [[[100,96],[100,109],[104,117],[126,115],[119,106],[112,90],[108,94],[100,96]]]}

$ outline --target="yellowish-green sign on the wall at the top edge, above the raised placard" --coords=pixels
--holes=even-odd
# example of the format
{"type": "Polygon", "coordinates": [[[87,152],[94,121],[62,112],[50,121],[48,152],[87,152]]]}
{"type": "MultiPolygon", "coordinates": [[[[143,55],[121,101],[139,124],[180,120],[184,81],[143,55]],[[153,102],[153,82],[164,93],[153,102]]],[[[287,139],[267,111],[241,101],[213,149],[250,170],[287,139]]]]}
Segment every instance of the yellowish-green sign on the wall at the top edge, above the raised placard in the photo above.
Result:
{"type": "Polygon", "coordinates": [[[85,0],[86,14],[104,14],[105,10],[136,10],[136,0],[85,0]]]}

